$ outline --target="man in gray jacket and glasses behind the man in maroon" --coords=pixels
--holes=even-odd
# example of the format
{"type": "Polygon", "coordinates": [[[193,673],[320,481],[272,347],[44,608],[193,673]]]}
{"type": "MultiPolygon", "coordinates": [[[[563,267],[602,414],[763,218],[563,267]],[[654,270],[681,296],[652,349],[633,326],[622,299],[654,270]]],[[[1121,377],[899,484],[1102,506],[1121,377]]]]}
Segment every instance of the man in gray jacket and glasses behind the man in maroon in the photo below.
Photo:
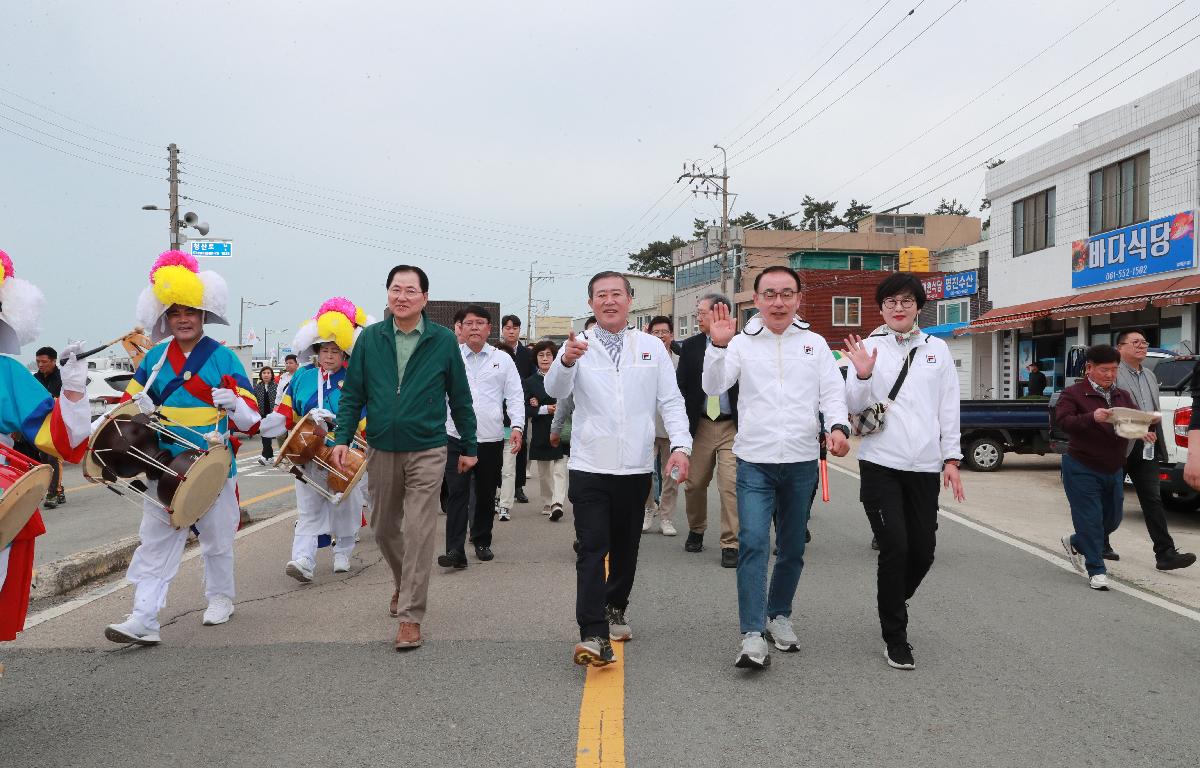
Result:
{"type": "MultiPolygon", "coordinates": [[[[1158,378],[1153,371],[1142,366],[1148,350],[1150,344],[1141,331],[1122,331],[1117,335],[1117,352],[1121,353],[1117,386],[1133,395],[1139,409],[1158,410],[1158,378]]],[[[1154,425],[1154,438],[1129,440],[1126,474],[1138,491],[1146,530],[1154,542],[1154,565],[1160,571],[1170,571],[1192,565],[1196,562],[1196,556],[1176,550],[1166,529],[1166,515],[1163,514],[1163,497],[1158,487],[1158,463],[1166,460],[1162,424],[1154,425]]],[[[1104,557],[1112,560],[1118,558],[1108,541],[1104,542],[1104,557]]]]}

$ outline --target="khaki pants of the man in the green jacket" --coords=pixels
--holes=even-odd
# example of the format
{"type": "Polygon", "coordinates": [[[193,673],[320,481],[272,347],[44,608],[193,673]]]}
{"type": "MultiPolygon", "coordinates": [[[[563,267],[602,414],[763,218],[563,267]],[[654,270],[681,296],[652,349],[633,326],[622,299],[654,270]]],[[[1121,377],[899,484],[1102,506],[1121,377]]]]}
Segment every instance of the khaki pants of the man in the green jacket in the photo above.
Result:
{"type": "Polygon", "coordinates": [[[400,592],[400,620],[420,624],[430,592],[446,449],[367,451],[371,528],[400,592]]]}

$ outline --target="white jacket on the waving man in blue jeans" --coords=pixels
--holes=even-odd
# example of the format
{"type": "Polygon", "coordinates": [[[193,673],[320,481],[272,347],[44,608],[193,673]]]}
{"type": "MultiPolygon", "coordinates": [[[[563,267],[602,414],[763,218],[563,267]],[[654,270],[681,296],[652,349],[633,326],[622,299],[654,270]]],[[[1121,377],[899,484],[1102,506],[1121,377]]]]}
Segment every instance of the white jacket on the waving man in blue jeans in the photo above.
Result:
{"type": "MultiPolygon", "coordinates": [[[[757,464],[816,461],[821,414],[826,431],[847,425],[845,383],[829,344],[796,319],[782,334],[758,317],[730,341],[709,346],[700,384],[708,395],[738,390],[738,433],[733,455],[757,464]]],[[[847,427],[848,428],[848,427],[847,427]]]]}

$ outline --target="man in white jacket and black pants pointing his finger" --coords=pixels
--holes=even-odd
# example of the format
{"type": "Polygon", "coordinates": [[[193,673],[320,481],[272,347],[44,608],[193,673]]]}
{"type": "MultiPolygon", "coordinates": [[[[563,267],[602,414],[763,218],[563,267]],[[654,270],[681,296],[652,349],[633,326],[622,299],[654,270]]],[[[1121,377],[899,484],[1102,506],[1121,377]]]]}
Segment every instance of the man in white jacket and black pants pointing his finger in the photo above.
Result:
{"type": "Polygon", "coordinates": [[[654,468],[655,413],[662,414],[672,449],[662,481],[688,479],[691,433],[674,366],[662,342],[626,328],[632,302],[634,289],[624,275],[594,276],[588,305],[598,323],[580,337],[570,335],[545,379],[547,395],[575,400],[568,497],[580,545],[575,560],[580,665],[612,662],[610,640],[632,637],[625,608],[654,468]]]}

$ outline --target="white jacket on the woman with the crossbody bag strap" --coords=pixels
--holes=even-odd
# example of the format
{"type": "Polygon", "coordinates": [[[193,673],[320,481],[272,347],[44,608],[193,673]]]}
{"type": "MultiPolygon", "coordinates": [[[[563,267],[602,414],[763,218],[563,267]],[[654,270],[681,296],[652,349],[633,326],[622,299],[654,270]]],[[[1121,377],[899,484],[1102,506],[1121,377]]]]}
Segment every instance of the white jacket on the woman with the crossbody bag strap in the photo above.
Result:
{"type": "MultiPolygon", "coordinates": [[[[880,331],[863,343],[878,349],[880,356],[871,378],[859,379],[853,366],[846,377],[846,404],[856,413],[887,400],[913,348],[901,349],[895,334],[880,331]]],[[[858,457],[892,469],[940,473],[947,458],[962,458],[959,376],[944,341],[925,335],[913,344],[917,354],[896,401],[883,416],[884,427],[863,438],[858,457]]]]}

